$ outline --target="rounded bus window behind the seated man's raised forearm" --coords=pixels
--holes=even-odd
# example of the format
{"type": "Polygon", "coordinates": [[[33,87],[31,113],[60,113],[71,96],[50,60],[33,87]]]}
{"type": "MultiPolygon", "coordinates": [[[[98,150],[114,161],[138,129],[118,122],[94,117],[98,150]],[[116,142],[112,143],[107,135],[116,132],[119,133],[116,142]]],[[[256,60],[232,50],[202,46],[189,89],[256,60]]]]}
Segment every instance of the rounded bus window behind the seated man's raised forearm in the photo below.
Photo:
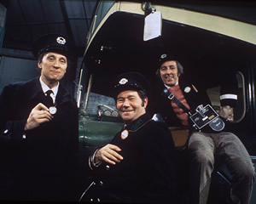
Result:
{"type": "MultiPolygon", "coordinates": [[[[238,106],[234,107],[234,123],[241,122],[246,113],[244,77],[240,71],[237,71],[236,78],[238,82],[238,106]]],[[[216,111],[220,110],[219,89],[219,86],[207,89],[207,94],[211,99],[213,108],[216,111]]]]}

